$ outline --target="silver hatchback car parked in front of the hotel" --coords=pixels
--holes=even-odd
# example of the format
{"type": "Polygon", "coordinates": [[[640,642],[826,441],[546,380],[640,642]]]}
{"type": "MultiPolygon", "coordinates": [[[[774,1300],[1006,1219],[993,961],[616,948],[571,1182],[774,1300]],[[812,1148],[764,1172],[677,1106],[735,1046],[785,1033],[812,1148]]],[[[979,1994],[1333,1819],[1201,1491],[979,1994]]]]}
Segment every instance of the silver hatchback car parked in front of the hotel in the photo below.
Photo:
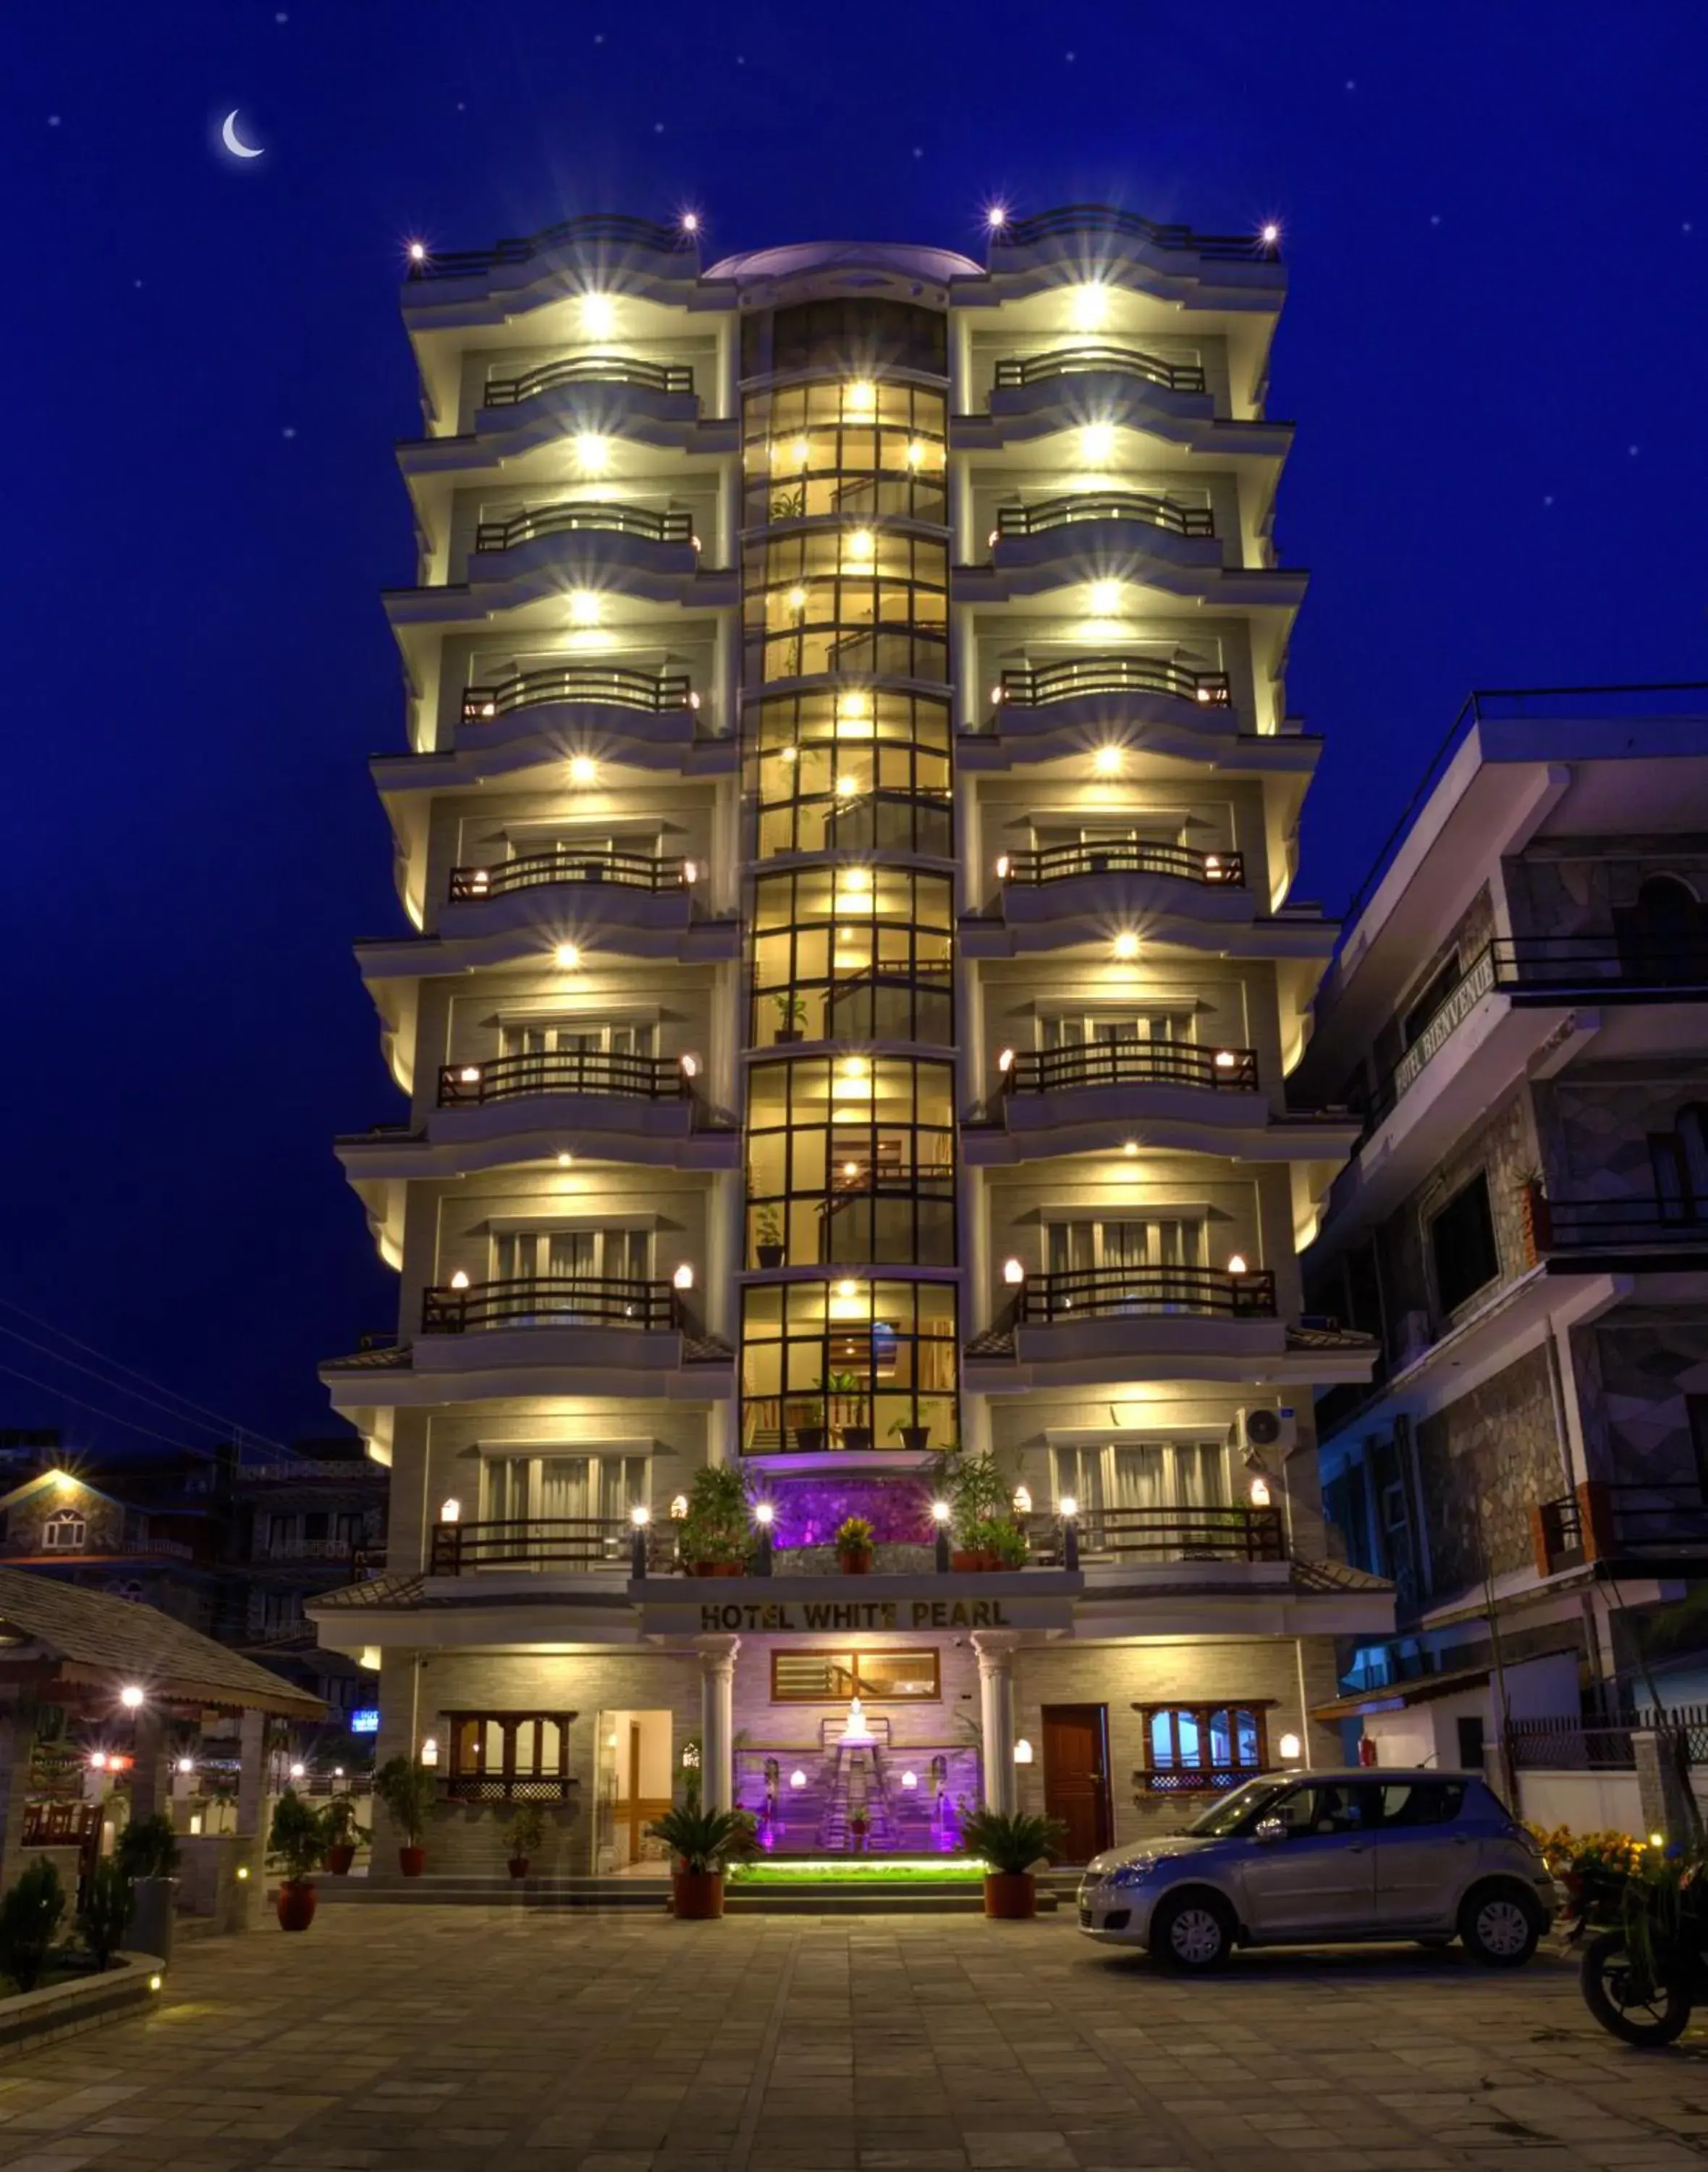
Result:
{"type": "Polygon", "coordinates": [[[1517,1968],[1560,1892],[1524,1827],[1474,1772],[1272,1772],[1183,1833],[1092,1859],[1079,1927],[1172,1968],[1235,1946],[1454,1937],[1517,1968]]]}

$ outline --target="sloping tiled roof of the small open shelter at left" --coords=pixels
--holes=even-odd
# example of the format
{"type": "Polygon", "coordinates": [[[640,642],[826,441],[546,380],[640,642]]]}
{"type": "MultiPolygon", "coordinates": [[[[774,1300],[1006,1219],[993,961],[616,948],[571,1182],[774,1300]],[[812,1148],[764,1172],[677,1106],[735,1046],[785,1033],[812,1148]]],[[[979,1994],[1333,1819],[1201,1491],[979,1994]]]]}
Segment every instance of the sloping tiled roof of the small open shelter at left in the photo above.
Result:
{"type": "Polygon", "coordinates": [[[0,1696],[7,1690],[89,1714],[137,1688],[154,1709],[271,1712],[323,1720],[326,1705],[158,1607],[0,1568],[0,1696]]]}

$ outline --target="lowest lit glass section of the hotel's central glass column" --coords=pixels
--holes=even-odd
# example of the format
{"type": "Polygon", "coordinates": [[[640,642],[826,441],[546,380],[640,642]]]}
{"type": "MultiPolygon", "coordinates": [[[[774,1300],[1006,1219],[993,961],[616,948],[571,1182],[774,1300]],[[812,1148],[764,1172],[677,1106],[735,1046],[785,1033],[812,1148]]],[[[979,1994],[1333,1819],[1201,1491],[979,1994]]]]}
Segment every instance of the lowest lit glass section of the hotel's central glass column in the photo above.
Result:
{"type": "Polygon", "coordinates": [[[955,1436],[955,1286],[849,1275],[742,1292],[742,1449],[877,1447],[903,1427],[955,1436]]]}

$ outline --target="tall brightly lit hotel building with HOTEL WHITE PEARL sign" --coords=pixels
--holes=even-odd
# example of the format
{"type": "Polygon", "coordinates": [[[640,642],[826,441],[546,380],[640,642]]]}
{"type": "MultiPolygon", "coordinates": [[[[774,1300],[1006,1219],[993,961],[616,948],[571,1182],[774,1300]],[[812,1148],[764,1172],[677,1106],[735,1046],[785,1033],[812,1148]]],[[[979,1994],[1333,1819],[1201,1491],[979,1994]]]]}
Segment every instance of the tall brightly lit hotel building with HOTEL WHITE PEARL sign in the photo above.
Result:
{"type": "Polygon", "coordinates": [[[701,272],[621,217],[417,258],[412,932],[358,949],[410,1114],[341,1142],[401,1331],[326,1366],[391,1568],[308,1612],[378,1649],[380,1755],[493,1805],[438,1868],[517,1794],[621,1868],[684,1764],[786,1848],[983,1794],[1083,1857],[1333,1751],[1391,1594],[1309,1453],[1374,1344],[1293,1258],[1356,1123],[1283,1095],[1335,925],[1289,901],[1280,300],[1270,243],[1085,209],[990,265],[701,272]],[[933,1570],[957,1442],[1024,1570],[933,1570]],[[708,1464],[773,1577],[666,1577],[708,1464]]]}

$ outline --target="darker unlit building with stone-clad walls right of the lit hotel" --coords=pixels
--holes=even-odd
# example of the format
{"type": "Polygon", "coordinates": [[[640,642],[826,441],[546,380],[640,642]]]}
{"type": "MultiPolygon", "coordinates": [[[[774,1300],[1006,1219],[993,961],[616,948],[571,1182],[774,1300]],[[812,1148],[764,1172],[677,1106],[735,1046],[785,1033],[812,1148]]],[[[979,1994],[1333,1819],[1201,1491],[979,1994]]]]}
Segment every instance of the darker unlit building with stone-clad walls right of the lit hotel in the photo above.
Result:
{"type": "Polygon", "coordinates": [[[1474,1761],[1502,1685],[1649,1703],[1636,1629],[1708,1570],[1708,686],[1476,695],[1378,877],[1293,1075],[1363,1123],[1307,1288],[1382,1351],[1317,1405],[1400,1594],[1343,1709],[1474,1761]]]}

